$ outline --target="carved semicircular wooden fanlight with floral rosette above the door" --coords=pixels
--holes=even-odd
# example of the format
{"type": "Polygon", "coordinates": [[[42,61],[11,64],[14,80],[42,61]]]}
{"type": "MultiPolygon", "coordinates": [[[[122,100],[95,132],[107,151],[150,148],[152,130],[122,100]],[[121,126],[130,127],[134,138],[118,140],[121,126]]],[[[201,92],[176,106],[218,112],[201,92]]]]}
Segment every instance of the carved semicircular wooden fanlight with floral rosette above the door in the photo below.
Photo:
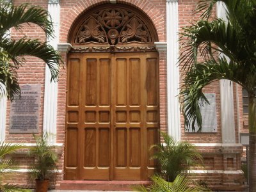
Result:
{"type": "MultiPolygon", "coordinates": [[[[152,50],[154,43],[143,18],[124,8],[107,8],[88,15],[81,22],[73,41],[72,44],[77,47],[90,45],[96,49],[114,46],[119,47],[115,48],[118,51],[134,50],[138,47],[152,50]],[[125,46],[133,48],[126,49],[125,46]]],[[[77,50],[84,49],[76,48],[77,50]]]]}

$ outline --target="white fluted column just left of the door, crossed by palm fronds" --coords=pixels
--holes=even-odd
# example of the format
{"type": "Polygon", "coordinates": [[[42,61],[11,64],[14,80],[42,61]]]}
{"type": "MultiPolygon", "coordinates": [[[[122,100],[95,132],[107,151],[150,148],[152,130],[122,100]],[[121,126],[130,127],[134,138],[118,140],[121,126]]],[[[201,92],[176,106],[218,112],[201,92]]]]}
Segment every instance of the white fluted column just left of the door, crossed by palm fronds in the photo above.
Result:
{"type": "MultiPolygon", "coordinates": [[[[54,25],[54,38],[47,39],[57,49],[60,36],[60,0],[49,0],[48,12],[54,25]]],[[[56,134],[58,83],[51,82],[49,67],[45,67],[44,132],[56,134]]],[[[51,139],[55,143],[54,138],[51,139]]]]}

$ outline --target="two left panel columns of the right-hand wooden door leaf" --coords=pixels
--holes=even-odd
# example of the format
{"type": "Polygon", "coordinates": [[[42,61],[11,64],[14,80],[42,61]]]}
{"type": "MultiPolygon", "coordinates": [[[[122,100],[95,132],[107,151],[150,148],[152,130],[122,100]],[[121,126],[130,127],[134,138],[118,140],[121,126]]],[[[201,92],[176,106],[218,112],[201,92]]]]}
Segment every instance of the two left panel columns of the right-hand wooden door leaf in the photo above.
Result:
{"type": "MultiPolygon", "coordinates": [[[[145,148],[143,134],[143,92],[145,75],[143,54],[116,53],[113,82],[114,180],[143,180],[145,148]]],[[[144,128],[145,129],[145,128],[144,128]]]]}

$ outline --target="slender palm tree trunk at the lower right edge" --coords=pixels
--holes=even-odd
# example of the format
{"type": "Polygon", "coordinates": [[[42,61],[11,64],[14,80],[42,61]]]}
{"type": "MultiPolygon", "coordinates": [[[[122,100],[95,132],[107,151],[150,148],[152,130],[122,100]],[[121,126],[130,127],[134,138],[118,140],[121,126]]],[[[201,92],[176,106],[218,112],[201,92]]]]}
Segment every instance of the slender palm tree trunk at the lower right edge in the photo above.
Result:
{"type": "Polygon", "coordinates": [[[249,96],[249,191],[256,191],[256,98],[249,96]]]}

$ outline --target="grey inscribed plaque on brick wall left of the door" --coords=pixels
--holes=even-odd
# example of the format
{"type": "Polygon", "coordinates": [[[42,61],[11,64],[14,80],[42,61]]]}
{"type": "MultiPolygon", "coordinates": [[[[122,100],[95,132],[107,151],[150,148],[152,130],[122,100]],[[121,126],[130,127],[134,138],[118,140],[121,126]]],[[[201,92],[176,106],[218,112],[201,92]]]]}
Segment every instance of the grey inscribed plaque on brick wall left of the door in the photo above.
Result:
{"type": "Polygon", "coordinates": [[[20,86],[18,96],[11,103],[10,133],[36,133],[39,129],[40,84],[20,86]]]}

